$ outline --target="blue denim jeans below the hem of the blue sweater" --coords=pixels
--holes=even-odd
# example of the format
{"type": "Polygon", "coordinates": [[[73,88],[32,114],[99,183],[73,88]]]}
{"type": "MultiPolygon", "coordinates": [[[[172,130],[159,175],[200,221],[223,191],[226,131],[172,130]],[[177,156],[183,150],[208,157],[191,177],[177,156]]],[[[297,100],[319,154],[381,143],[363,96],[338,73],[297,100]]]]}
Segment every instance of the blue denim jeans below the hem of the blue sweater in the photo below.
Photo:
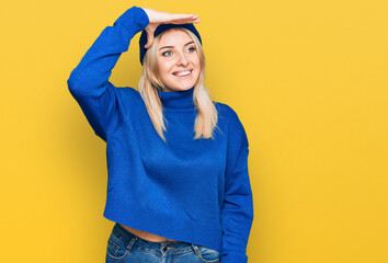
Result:
{"type": "Polygon", "coordinates": [[[187,242],[152,242],[128,232],[117,222],[106,248],[106,263],[218,263],[219,252],[187,242]]]}

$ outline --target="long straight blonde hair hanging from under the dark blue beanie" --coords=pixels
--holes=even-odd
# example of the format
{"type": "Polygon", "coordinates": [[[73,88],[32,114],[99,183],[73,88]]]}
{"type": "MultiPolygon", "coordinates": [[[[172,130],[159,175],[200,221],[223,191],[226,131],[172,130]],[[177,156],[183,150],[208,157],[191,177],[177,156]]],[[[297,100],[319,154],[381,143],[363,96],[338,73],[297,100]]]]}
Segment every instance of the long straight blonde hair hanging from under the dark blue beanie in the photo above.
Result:
{"type": "MultiPolygon", "coordinates": [[[[199,64],[201,64],[201,72],[198,77],[198,81],[194,87],[193,91],[193,103],[194,106],[198,108],[198,113],[195,118],[194,124],[194,139],[214,139],[213,132],[217,126],[218,121],[218,113],[217,110],[210,100],[210,91],[204,85],[205,79],[205,56],[202,48],[202,45],[198,38],[189,30],[183,27],[174,27],[173,30],[181,30],[189,34],[194,44],[196,46],[197,54],[199,56],[199,64]]],[[[166,87],[159,78],[159,70],[158,70],[158,46],[161,36],[167,31],[159,34],[155,37],[152,46],[147,50],[144,62],[142,62],[142,73],[139,80],[139,93],[145,101],[148,114],[151,118],[155,129],[166,142],[166,138],[163,135],[163,130],[166,132],[164,121],[167,119],[162,113],[162,103],[158,95],[159,90],[164,90],[166,87]]]]}

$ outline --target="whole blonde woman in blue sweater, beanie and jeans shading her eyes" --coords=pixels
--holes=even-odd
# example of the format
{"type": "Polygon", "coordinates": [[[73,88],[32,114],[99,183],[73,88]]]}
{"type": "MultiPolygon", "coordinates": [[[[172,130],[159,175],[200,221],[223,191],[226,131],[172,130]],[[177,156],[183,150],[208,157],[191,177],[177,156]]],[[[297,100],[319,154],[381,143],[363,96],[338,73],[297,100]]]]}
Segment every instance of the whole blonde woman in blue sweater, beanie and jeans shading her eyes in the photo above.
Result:
{"type": "Polygon", "coordinates": [[[204,87],[198,21],[133,7],[104,28],[68,80],[106,141],[104,217],[115,222],[106,262],[248,261],[248,138],[236,112],[204,87]],[[140,31],[139,91],[116,88],[111,71],[140,31]]]}

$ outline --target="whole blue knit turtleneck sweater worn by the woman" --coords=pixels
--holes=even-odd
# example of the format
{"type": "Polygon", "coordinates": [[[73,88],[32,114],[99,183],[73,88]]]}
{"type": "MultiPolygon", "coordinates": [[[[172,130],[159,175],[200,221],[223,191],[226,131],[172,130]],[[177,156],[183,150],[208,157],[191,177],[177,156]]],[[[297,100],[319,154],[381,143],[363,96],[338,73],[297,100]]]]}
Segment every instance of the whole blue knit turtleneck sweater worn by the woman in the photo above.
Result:
{"type": "Polygon", "coordinates": [[[214,102],[214,139],[194,140],[194,88],[158,91],[167,118],[159,137],[140,93],[110,81],[121,54],[149,23],[128,9],[103,30],[68,79],[94,133],[106,141],[104,217],[168,239],[220,252],[222,263],[246,263],[253,220],[248,138],[236,112],[214,102]]]}

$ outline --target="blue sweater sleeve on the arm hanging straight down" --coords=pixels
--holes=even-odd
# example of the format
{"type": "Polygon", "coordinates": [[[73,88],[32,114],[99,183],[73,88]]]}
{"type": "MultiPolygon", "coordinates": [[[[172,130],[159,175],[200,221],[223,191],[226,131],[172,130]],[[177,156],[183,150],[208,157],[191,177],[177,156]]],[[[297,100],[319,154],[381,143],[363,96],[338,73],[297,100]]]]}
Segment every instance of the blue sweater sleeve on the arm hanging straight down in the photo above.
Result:
{"type": "Polygon", "coordinates": [[[228,137],[220,262],[247,263],[247,244],[253,221],[253,196],[248,173],[249,144],[246,130],[233,111],[228,137]]]}

